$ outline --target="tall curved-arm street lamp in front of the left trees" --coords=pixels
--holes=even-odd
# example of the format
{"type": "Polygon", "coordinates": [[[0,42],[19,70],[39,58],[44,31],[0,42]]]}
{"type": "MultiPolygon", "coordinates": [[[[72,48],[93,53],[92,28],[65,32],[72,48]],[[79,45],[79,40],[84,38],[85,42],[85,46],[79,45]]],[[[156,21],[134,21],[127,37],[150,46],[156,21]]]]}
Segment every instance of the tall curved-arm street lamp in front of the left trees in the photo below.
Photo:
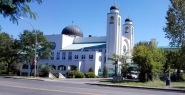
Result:
{"type": "MultiPolygon", "coordinates": [[[[26,22],[28,22],[32,27],[33,25],[31,24],[31,22],[29,22],[28,20],[22,18],[22,17],[19,17],[20,19],[22,20],[25,20],[26,22]]],[[[34,72],[34,77],[36,77],[36,63],[37,63],[37,33],[36,33],[36,30],[35,28],[33,27],[33,31],[35,32],[35,55],[34,55],[34,65],[35,65],[35,72],[34,72]]]]}

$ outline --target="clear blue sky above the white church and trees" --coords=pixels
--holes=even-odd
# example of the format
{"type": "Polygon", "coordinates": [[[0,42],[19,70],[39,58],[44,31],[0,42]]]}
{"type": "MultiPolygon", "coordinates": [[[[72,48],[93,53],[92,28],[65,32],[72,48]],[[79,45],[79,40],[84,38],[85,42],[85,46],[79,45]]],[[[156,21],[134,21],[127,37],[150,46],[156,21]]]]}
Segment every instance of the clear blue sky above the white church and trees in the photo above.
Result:
{"type": "MultiPolygon", "coordinates": [[[[39,15],[37,20],[25,18],[30,21],[35,29],[43,31],[45,35],[61,34],[62,29],[68,25],[78,26],[85,37],[88,35],[105,36],[107,13],[114,5],[115,0],[44,0],[41,5],[32,3],[31,9],[39,15]]],[[[122,16],[122,24],[129,17],[135,28],[135,43],[149,41],[156,38],[159,46],[167,46],[169,40],[165,38],[165,16],[168,10],[169,0],[116,0],[122,16]]],[[[5,31],[14,37],[23,30],[33,28],[24,20],[19,24],[13,24],[9,18],[0,15],[0,25],[5,31]]]]}

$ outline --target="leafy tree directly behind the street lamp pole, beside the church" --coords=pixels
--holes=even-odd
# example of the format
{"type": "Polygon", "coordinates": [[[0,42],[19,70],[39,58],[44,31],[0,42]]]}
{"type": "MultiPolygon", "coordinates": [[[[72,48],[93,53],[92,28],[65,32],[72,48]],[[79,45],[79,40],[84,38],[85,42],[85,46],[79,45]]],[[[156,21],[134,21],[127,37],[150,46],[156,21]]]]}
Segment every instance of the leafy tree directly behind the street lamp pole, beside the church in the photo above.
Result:
{"type": "MultiPolygon", "coordinates": [[[[24,52],[24,60],[34,67],[34,53],[35,53],[35,32],[24,30],[23,34],[20,34],[21,45],[24,46],[22,51],[24,52]]],[[[44,36],[43,32],[37,31],[37,60],[51,58],[50,52],[53,44],[49,42],[44,36]]],[[[33,68],[31,68],[32,73],[33,68]]]]}

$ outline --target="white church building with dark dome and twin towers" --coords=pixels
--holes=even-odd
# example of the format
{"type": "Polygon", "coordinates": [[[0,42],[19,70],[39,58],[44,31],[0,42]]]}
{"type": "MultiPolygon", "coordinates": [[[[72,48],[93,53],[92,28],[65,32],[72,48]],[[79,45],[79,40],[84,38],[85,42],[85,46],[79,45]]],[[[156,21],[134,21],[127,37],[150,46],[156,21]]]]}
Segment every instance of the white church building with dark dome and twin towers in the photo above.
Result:
{"type": "MultiPolygon", "coordinates": [[[[51,51],[53,58],[39,60],[37,67],[41,64],[52,65],[56,72],[61,72],[63,75],[68,70],[76,68],[85,74],[89,68],[93,68],[95,75],[98,75],[104,66],[109,72],[113,72],[115,66],[109,54],[123,55],[126,51],[131,51],[134,46],[132,20],[127,18],[122,24],[121,19],[119,8],[114,5],[107,13],[106,36],[83,37],[82,30],[75,25],[65,27],[61,34],[45,35],[48,41],[54,44],[51,51]]],[[[127,63],[131,63],[131,59],[128,59],[127,63]]],[[[23,68],[21,74],[29,75],[30,71],[23,68]]]]}

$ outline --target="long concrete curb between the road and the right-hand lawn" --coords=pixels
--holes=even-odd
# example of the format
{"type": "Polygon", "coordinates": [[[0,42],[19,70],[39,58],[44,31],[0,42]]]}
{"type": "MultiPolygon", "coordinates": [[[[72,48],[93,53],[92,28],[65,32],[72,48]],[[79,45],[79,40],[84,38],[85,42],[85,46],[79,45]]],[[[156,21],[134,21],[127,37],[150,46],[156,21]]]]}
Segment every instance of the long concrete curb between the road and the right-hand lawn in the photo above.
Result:
{"type": "Polygon", "coordinates": [[[137,88],[137,89],[150,89],[150,90],[163,90],[163,91],[173,91],[173,92],[185,92],[185,90],[172,89],[172,88],[155,88],[155,87],[145,87],[145,86],[114,85],[114,84],[99,84],[99,83],[85,83],[85,84],[98,85],[98,86],[110,86],[110,87],[122,87],[122,88],[137,88]]]}

